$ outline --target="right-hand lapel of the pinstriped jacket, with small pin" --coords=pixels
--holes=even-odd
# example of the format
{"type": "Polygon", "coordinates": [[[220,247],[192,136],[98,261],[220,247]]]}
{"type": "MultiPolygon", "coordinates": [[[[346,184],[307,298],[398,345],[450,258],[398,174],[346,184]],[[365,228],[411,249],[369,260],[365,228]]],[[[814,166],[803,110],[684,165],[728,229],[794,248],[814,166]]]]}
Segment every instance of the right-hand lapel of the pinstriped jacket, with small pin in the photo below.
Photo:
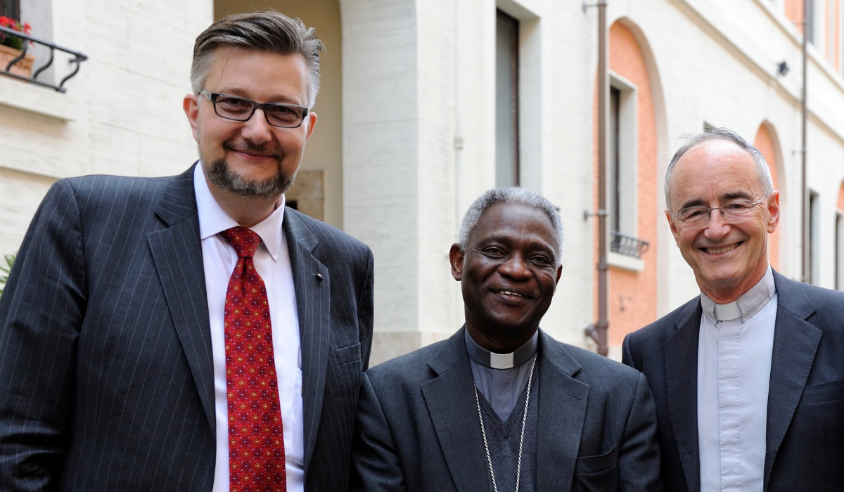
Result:
{"type": "Polygon", "coordinates": [[[314,254],[319,242],[290,208],[284,210],[284,239],[293,270],[302,351],[302,416],[305,469],[313,456],[322,417],[322,399],[331,342],[331,278],[314,254]],[[322,276],[322,280],[317,278],[322,276]]]}

